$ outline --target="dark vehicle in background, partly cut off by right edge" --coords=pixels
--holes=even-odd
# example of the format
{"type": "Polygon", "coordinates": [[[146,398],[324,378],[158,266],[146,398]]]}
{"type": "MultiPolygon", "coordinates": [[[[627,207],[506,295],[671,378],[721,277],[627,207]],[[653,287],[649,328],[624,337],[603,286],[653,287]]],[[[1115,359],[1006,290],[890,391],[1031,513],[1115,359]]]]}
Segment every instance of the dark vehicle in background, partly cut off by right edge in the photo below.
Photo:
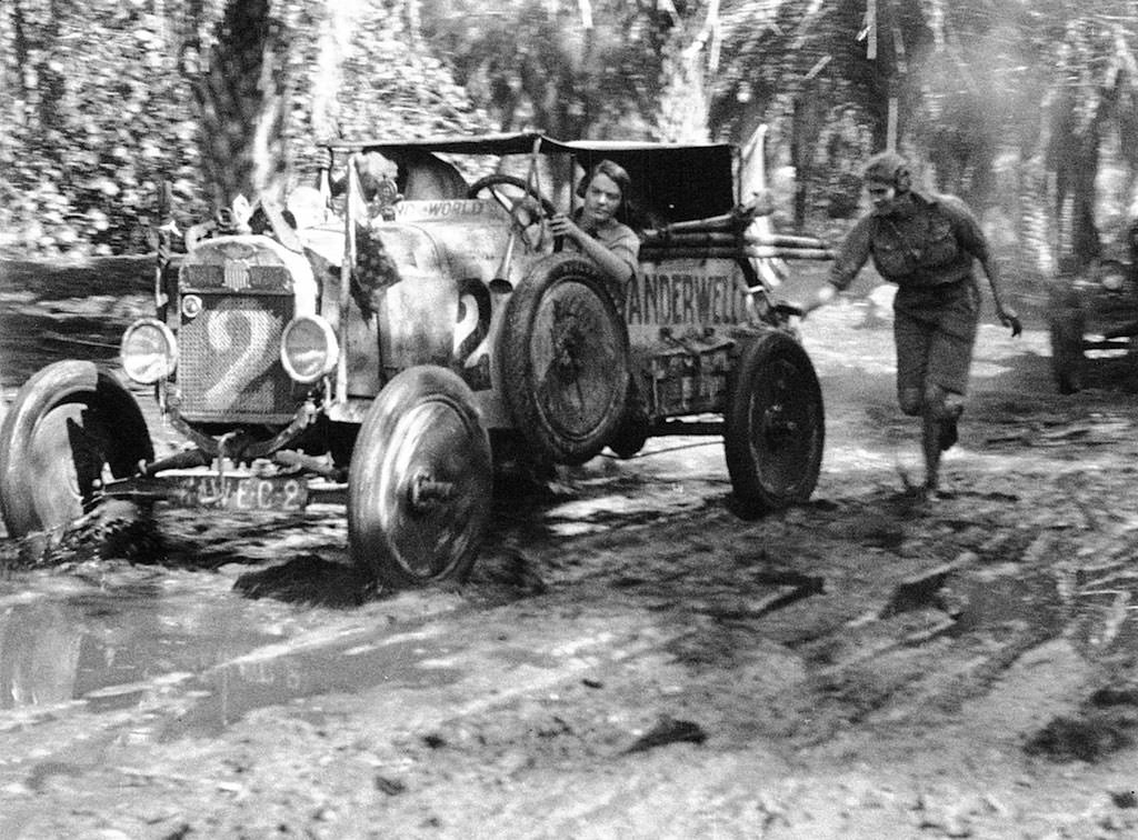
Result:
{"type": "Polygon", "coordinates": [[[1083,387],[1087,351],[1133,352],[1138,336],[1138,223],[1121,253],[1086,271],[1064,271],[1048,299],[1052,372],[1061,394],[1083,387]]]}

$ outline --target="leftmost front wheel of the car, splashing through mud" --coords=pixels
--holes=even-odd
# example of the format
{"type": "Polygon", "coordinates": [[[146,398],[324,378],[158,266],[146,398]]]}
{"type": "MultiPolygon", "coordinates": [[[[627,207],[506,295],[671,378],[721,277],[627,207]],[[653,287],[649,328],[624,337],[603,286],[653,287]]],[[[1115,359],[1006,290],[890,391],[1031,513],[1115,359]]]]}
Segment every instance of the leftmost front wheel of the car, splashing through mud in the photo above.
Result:
{"type": "Polygon", "coordinates": [[[92,362],[50,364],[0,426],[0,511],[14,537],[49,541],[86,512],[99,484],[154,460],[138,402],[92,362]]]}

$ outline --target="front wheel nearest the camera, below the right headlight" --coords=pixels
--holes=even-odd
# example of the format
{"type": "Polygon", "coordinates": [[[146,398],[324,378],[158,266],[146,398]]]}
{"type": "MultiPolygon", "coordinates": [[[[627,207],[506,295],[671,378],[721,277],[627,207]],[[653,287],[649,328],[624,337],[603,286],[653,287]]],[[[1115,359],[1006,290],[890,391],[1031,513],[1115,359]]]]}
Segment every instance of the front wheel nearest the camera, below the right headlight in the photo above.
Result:
{"type": "Polygon", "coordinates": [[[348,469],[353,560],[385,586],[464,578],[490,513],[489,436],[473,394],[435,367],[397,374],[372,403],[348,469]]]}

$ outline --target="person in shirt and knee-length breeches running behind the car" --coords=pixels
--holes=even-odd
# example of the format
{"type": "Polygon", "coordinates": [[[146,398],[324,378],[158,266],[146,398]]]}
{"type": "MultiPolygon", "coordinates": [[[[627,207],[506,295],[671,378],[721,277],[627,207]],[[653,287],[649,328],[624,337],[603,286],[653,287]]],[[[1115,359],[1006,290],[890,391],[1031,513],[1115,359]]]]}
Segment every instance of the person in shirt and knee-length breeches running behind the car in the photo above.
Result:
{"type": "Polygon", "coordinates": [[[988,241],[964,201],[914,190],[908,164],[893,151],[869,159],[865,184],[873,209],[847,236],[828,282],[803,314],[849,288],[871,256],[881,277],[897,285],[897,398],[902,412],[922,419],[924,491],[934,494],[941,453],[956,443],[980,320],[974,261],[988,277],[1000,323],[1013,336],[1023,328],[1003,303],[988,241]]]}

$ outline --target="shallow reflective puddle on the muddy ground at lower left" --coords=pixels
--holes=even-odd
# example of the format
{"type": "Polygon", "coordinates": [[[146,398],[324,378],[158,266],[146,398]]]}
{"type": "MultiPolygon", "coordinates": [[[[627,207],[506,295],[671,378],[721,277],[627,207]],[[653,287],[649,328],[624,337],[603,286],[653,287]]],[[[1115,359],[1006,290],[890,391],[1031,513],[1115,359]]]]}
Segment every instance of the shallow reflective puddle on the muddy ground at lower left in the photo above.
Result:
{"type": "Polygon", "coordinates": [[[253,709],[302,698],[461,677],[442,640],[361,644],[354,634],[299,647],[250,629],[256,618],[240,598],[10,599],[0,606],[0,723],[5,711],[68,703],[94,714],[130,709],[131,742],[165,741],[216,734],[253,709]]]}

